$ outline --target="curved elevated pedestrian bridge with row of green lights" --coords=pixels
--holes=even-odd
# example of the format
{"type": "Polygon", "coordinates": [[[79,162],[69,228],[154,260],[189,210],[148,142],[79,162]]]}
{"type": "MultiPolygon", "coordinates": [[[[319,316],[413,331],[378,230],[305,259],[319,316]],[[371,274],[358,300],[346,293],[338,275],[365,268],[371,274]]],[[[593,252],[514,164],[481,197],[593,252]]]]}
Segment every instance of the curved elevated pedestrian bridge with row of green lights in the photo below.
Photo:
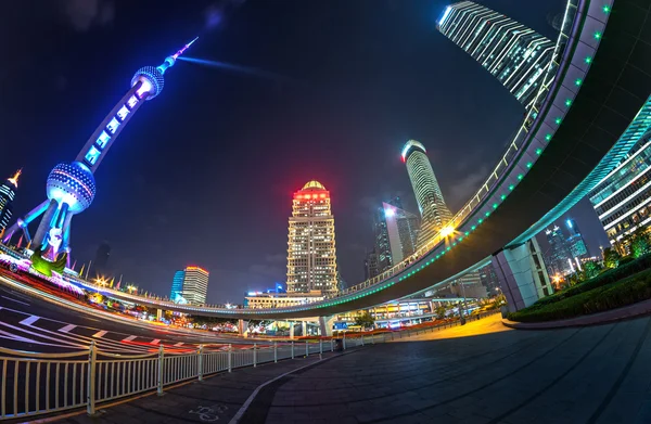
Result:
{"type": "Polygon", "coordinates": [[[85,284],[191,314],[297,319],[399,299],[486,265],[576,204],[650,128],[651,16],[640,4],[567,1],[545,83],[503,156],[445,231],[383,274],[322,301],[275,309],[176,305],[85,284]]]}

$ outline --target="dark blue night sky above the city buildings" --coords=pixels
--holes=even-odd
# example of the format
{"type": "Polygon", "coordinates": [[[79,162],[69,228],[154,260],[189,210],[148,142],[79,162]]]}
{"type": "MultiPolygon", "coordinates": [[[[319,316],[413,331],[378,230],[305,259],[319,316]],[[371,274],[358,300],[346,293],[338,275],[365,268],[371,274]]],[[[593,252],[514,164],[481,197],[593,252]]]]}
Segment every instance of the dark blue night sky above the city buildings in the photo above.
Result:
{"type": "MultiPolygon", "coordinates": [[[[442,0],[22,0],[0,14],[0,175],[23,167],[14,211],[75,158],[143,65],[200,35],[123,131],[73,220],[73,255],[108,261],[125,282],[168,295],[176,269],[210,271],[209,303],[284,282],[292,193],[311,179],[332,196],[344,280],[363,277],[371,210],[401,195],[417,211],[399,152],[429,150],[452,211],[510,142],[524,111],[438,34],[442,0]],[[271,76],[270,76],[271,75],[271,76]],[[273,76],[276,75],[276,77],[273,76]]],[[[483,2],[553,37],[563,0],[483,2]]],[[[587,202],[572,215],[595,250],[608,243],[587,202]]],[[[33,224],[31,231],[36,230],[33,224]]]]}

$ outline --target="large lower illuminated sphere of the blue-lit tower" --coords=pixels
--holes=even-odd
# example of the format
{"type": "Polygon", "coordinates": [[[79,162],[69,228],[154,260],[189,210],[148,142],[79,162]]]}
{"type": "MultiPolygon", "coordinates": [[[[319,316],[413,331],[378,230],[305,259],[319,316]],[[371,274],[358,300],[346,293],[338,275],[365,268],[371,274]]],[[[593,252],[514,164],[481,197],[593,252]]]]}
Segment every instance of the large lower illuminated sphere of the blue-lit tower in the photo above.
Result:
{"type": "Polygon", "coordinates": [[[90,169],[79,163],[56,165],[48,176],[49,200],[67,204],[72,214],[79,214],[90,206],[95,195],[94,177],[90,169]]]}

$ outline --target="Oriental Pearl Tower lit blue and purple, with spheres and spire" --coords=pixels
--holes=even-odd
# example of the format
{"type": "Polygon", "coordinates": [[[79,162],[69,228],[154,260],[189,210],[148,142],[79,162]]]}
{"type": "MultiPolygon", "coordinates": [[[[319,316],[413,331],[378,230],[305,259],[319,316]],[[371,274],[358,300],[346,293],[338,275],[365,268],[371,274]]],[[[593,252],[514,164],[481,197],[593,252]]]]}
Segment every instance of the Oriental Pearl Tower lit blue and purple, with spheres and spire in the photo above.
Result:
{"type": "MultiPolygon", "coordinates": [[[[3,243],[8,243],[16,231],[22,230],[39,255],[52,260],[59,253],[69,254],[71,221],[75,215],[86,210],[95,196],[94,171],[140,105],[163,91],[165,72],[174,66],[176,60],[197,38],[165,57],[159,66],[144,66],[136,72],[131,78],[131,89],[90,136],[75,160],[59,164],[50,171],[46,182],[48,198],[7,229],[3,243]],[[27,227],[41,215],[41,221],[31,239],[27,227]]],[[[69,255],[66,256],[69,261],[69,255]]]]}

